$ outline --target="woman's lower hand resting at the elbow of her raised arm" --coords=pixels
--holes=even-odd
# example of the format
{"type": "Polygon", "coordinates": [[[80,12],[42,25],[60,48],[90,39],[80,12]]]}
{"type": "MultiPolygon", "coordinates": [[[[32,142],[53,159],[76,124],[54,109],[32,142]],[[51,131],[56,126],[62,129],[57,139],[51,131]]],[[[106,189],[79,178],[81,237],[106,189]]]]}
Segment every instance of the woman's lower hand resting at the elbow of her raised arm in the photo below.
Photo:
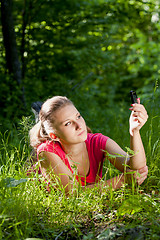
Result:
{"type": "Polygon", "coordinates": [[[125,175],[126,181],[127,181],[127,183],[132,183],[132,176],[133,176],[133,179],[135,180],[135,182],[138,185],[141,185],[144,182],[144,180],[147,178],[147,174],[148,174],[147,166],[145,166],[137,171],[128,169],[127,174],[125,175]],[[132,174],[133,171],[134,171],[134,173],[132,174]]]}

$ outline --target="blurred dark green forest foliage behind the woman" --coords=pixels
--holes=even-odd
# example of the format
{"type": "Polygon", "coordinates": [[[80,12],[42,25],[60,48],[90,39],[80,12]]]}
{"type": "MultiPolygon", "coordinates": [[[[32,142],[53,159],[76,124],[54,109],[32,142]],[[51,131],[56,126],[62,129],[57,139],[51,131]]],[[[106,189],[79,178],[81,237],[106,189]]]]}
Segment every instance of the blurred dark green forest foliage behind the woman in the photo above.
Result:
{"type": "Polygon", "coordinates": [[[13,1],[27,106],[19,97],[21,86],[6,74],[2,46],[0,122],[5,119],[5,129],[11,118],[17,124],[30,114],[33,101],[57,94],[70,97],[91,127],[92,119],[106,117],[102,109],[110,114],[115,105],[129,103],[131,89],[143,99],[151,96],[159,82],[158,14],[153,0],[13,1]]]}

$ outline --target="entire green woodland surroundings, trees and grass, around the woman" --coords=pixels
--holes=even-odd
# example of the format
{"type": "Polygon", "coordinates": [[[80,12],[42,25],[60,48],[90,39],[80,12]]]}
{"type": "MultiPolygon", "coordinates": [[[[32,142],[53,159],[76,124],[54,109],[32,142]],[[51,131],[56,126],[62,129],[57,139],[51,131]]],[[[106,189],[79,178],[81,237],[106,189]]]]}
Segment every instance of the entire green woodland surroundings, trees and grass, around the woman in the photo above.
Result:
{"type": "MultiPolygon", "coordinates": [[[[159,239],[159,1],[0,3],[0,237],[159,239]],[[144,195],[124,189],[107,195],[104,189],[46,198],[39,176],[26,180],[33,102],[66,95],[93,132],[126,147],[130,90],[149,114],[141,130],[149,167],[144,195]],[[120,225],[110,227],[116,221],[120,225]],[[109,228],[103,232],[104,225],[109,228]]],[[[111,167],[107,177],[115,173],[111,167]]]]}

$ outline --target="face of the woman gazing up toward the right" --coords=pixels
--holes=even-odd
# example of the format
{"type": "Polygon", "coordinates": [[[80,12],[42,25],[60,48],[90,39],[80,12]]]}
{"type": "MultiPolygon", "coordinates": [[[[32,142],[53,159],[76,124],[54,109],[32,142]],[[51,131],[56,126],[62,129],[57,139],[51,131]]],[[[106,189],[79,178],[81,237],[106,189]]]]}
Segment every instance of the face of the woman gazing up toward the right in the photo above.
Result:
{"type": "Polygon", "coordinates": [[[54,119],[55,134],[62,144],[76,144],[87,139],[86,123],[74,105],[58,110],[54,119]]]}

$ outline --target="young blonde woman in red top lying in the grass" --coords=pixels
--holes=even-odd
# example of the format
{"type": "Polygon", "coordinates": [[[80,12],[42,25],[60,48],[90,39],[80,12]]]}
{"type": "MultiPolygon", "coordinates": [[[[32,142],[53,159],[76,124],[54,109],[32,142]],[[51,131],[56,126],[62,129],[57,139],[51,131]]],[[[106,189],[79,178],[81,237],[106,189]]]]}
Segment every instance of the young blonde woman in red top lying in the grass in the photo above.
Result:
{"type": "Polygon", "coordinates": [[[66,193],[73,187],[73,180],[82,187],[100,185],[104,160],[109,160],[121,175],[106,181],[114,189],[129,181],[133,175],[138,184],[147,177],[148,168],[139,130],[147,121],[148,115],[143,105],[132,104],[130,117],[130,148],[132,157],[112,139],[101,133],[92,134],[74,104],[66,97],[55,96],[48,99],[39,113],[39,122],[30,131],[30,144],[37,151],[42,174],[48,181],[55,182],[55,176],[66,193]],[[106,152],[109,153],[106,155],[106,152]],[[124,175],[127,171],[134,174],[124,175]],[[136,170],[136,171],[135,171],[136,170]],[[136,174],[138,172],[139,174],[136,174]]]}

